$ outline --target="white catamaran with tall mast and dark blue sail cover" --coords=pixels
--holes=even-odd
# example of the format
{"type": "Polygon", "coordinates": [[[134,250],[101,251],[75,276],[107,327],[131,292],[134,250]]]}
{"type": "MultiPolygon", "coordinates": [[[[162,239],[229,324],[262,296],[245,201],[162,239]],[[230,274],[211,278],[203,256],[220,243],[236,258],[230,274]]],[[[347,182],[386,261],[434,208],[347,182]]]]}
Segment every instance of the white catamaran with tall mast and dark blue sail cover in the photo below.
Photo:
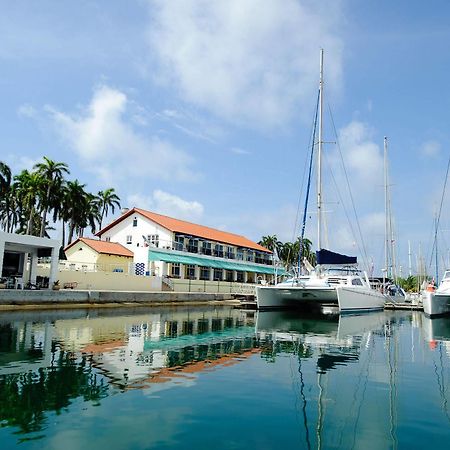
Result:
{"type": "MultiPolygon", "coordinates": [[[[315,268],[310,268],[310,273],[307,276],[296,275],[274,286],[257,286],[256,302],[258,309],[292,307],[321,309],[324,305],[332,305],[337,306],[340,312],[346,312],[384,308],[385,296],[371,288],[367,274],[362,276],[356,267],[356,257],[341,255],[322,248],[323,87],[323,50],[321,50],[317,142],[317,244],[319,248],[316,252],[317,265],[315,268]]],[[[304,226],[305,216],[302,238],[304,226]]]]}

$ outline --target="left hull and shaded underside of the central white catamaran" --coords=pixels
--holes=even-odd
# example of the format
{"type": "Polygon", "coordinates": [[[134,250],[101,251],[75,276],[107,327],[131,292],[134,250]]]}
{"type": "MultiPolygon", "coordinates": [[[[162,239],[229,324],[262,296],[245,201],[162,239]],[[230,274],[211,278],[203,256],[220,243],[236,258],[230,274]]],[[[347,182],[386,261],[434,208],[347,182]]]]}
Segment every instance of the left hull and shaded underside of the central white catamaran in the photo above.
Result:
{"type": "Polygon", "coordinates": [[[322,304],[336,304],[334,287],[301,286],[258,286],[256,288],[258,309],[287,309],[301,307],[320,307],[322,304]]]}

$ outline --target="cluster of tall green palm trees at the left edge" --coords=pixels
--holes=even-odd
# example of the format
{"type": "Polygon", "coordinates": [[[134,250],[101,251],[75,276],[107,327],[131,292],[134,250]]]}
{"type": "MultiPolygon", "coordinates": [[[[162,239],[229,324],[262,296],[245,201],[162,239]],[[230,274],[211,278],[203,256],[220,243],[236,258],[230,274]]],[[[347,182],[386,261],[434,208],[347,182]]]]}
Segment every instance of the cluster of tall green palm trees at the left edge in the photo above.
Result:
{"type": "Polygon", "coordinates": [[[70,171],[66,163],[44,156],[33,169],[13,176],[7,164],[0,161],[0,230],[48,236],[48,230],[53,229],[51,217],[54,223],[62,222],[64,246],[66,224],[70,243],[75,235],[83,236],[86,228],[95,233],[108,213],[120,208],[114,188],[95,195],[78,180],[67,180],[70,171]]]}

